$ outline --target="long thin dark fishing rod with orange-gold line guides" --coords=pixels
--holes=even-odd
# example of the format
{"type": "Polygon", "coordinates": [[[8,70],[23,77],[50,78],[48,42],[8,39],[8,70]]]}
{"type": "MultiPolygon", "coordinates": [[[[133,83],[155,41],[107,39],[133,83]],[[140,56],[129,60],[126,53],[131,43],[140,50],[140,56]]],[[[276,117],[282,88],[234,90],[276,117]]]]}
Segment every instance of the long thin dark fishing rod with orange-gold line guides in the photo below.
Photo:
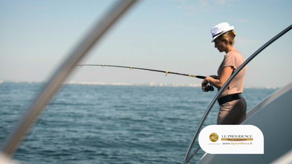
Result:
{"type": "Polygon", "coordinates": [[[191,74],[181,74],[181,73],[177,73],[177,72],[161,71],[161,70],[156,70],[156,69],[147,69],[147,68],[138,68],[138,67],[127,67],[127,66],[119,66],[119,65],[77,64],[76,66],[81,66],[81,67],[82,66],[101,66],[102,68],[103,67],[119,67],[119,68],[130,68],[130,70],[132,70],[132,69],[141,69],[141,70],[146,70],[146,71],[162,72],[162,73],[165,73],[165,76],[167,74],[176,74],[176,75],[196,77],[196,78],[201,78],[201,79],[206,78],[206,76],[195,76],[195,75],[191,75],[191,74]]]}

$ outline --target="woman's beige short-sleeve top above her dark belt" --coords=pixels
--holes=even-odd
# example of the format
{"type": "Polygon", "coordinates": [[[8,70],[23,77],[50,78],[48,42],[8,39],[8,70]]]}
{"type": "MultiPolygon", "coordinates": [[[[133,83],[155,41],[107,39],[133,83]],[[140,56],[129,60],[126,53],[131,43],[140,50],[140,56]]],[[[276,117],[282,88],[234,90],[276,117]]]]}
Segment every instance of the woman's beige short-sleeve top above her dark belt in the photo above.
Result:
{"type": "MultiPolygon", "coordinates": [[[[224,67],[231,67],[233,72],[245,61],[241,53],[238,52],[228,52],[218,68],[218,77],[220,78],[224,67]]],[[[232,72],[232,74],[233,74],[232,72]]],[[[244,87],[244,78],[246,74],[246,66],[237,74],[234,79],[230,82],[229,86],[223,91],[220,97],[234,94],[242,93],[244,87]]]]}

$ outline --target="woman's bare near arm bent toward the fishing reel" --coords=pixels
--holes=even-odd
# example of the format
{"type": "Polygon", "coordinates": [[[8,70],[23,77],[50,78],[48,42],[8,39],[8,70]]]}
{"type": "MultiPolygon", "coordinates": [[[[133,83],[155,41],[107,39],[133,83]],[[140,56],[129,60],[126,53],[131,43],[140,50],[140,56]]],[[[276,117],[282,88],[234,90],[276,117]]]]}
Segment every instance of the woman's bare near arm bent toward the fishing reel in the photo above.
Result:
{"type": "MultiPolygon", "coordinates": [[[[228,80],[228,78],[230,78],[232,71],[233,71],[232,67],[224,67],[219,79],[215,79],[211,76],[207,76],[202,81],[202,86],[206,86],[208,83],[210,83],[212,86],[220,89],[225,84],[225,82],[228,80]]],[[[218,76],[217,76],[217,78],[218,78],[218,76]]]]}

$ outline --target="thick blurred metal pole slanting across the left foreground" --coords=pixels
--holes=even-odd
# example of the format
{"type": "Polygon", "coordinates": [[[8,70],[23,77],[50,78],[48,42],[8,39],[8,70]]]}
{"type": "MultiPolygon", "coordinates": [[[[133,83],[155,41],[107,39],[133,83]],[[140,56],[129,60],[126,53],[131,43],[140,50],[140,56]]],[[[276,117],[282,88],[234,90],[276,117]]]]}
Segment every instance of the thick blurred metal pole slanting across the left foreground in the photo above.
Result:
{"type": "Polygon", "coordinates": [[[116,4],[105,14],[92,30],[88,32],[86,37],[76,46],[69,54],[67,59],[60,65],[53,76],[41,92],[36,96],[34,102],[28,108],[25,116],[18,122],[16,128],[2,145],[1,151],[6,156],[11,156],[16,150],[22,138],[26,135],[29,128],[36,121],[46,104],[57,93],[58,89],[65,79],[72,72],[75,65],[85,57],[88,50],[98,42],[101,37],[109,30],[112,25],[133,5],[137,0],[117,1],[116,4]]]}

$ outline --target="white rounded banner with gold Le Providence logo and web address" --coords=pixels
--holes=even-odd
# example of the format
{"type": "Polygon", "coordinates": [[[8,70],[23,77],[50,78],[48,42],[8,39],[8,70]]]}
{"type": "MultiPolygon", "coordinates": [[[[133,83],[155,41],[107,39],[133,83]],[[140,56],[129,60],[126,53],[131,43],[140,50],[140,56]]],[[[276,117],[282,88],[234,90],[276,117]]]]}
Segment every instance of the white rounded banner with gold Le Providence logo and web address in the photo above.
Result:
{"type": "Polygon", "coordinates": [[[254,125],[209,125],[201,130],[199,145],[210,154],[263,154],[264,136],[254,125]]]}

